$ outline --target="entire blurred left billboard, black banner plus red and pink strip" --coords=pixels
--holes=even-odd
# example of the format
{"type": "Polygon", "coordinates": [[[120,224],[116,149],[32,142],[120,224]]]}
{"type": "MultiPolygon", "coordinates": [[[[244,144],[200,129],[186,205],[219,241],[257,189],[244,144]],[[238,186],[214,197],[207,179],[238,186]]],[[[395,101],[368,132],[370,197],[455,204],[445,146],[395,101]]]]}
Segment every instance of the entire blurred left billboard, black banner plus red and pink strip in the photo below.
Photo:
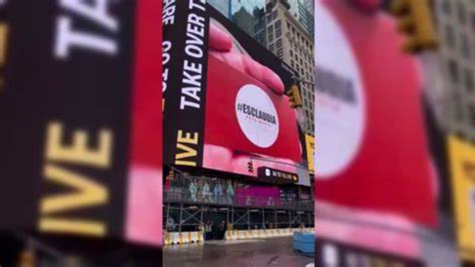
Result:
{"type": "Polygon", "coordinates": [[[0,230],[160,246],[161,3],[3,8],[0,230]]]}

